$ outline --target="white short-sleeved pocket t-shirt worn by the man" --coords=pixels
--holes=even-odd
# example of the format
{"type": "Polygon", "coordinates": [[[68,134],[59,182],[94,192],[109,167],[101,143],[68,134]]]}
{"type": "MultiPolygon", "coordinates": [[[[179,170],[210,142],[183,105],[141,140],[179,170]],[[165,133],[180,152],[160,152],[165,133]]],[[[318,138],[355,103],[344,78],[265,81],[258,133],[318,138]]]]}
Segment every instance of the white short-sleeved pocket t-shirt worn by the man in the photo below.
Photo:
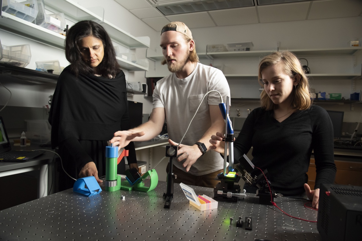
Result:
{"type": "MultiPolygon", "coordinates": [[[[176,143],[181,141],[202,98],[211,90],[219,91],[224,102],[226,96],[230,96],[230,88],[222,71],[201,63],[197,63],[194,71],[185,79],[178,79],[172,73],[157,82],[153,91],[153,108],[165,108],[169,139],[176,143]]],[[[211,126],[209,105],[219,105],[220,102],[220,95],[215,91],[204,98],[181,144],[192,146],[201,139],[211,126]]],[[[209,149],[210,144],[204,144],[209,149]]],[[[183,163],[173,162],[177,168],[186,171],[183,163]]],[[[195,176],[209,174],[223,169],[223,163],[219,153],[209,150],[191,166],[188,173],[195,176]]]]}

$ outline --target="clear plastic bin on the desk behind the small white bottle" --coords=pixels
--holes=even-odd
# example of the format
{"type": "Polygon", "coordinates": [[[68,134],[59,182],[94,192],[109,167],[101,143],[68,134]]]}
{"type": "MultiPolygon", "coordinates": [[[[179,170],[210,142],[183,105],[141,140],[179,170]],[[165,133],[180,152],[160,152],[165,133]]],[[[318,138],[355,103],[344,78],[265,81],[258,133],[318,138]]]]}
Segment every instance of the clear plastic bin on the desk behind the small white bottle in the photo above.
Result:
{"type": "Polygon", "coordinates": [[[31,143],[47,144],[50,141],[51,126],[47,120],[25,120],[26,138],[31,143]]]}

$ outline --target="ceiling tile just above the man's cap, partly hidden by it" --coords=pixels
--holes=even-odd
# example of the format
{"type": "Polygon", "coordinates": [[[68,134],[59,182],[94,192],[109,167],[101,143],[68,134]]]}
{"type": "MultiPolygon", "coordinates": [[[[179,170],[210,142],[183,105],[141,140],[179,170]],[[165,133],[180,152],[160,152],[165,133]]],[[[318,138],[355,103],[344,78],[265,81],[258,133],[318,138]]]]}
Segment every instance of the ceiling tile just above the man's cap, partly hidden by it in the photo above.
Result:
{"type": "Polygon", "coordinates": [[[169,15],[167,18],[171,22],[183,22],[190,29],[216,26],[207,12],[169,15]]]}

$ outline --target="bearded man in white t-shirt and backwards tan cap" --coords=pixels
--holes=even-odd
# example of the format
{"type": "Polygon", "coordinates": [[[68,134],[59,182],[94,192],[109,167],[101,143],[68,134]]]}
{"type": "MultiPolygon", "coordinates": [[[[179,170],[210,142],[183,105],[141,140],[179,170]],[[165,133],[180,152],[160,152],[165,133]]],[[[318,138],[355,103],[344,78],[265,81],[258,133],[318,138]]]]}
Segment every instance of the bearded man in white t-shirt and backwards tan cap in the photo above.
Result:
{"type": "MultiPolygon", "coordinates": [[[[172,22],[161,31],[163,65],[169,76],[159,80],[153,92],[153,109],[148,122],[128,131],[117,131],[110,141],[120,147],[130,141],[146,141],[159,135],[167,120],[169,143],[178,145],[188,129],[202,98],[211,90],[220,92],[223,100],[230,89],[222,71],[199,63],[195,41],[190,29],[182,22],[172,22]]],[[[220,95],[206,95],[191,125],[178,147],[177,162],[173,162],[175,182],[214,188],[214,180],[223,172],[223,158],[209,151],[209,140],[223,132],[225,122],[219,109],[220,95]]],[[[167,169],[169,166],[167,167],[167,169]]]]}

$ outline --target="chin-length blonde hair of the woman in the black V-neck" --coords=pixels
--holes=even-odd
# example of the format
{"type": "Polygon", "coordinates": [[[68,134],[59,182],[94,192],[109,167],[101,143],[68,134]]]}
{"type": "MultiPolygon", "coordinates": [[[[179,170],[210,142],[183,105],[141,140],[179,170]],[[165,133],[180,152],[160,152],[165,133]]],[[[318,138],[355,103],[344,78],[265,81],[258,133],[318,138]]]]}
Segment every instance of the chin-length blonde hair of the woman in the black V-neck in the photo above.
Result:
{"type": "MultiPolygon", "coordinates": [[[[259,63],[258,71],[259,84],[264,88],[261,72],[266,67],[275,65],[277,63],[282,63],[284,73],[297,81],[295,92],[292,91],[293,97],[291,100],[291,107],[298,110],[307,110],[312,104],[309,82],[302,68],[302,64],[294,55],[294,53],[289,51],[274,52],[262,58],[259,63]]],[[[261,107],[265,108],[266,110],[272,110],[274,108],[273,101],[271,101],[264,89],[260,94],[260,104],[261,107]]]]}

